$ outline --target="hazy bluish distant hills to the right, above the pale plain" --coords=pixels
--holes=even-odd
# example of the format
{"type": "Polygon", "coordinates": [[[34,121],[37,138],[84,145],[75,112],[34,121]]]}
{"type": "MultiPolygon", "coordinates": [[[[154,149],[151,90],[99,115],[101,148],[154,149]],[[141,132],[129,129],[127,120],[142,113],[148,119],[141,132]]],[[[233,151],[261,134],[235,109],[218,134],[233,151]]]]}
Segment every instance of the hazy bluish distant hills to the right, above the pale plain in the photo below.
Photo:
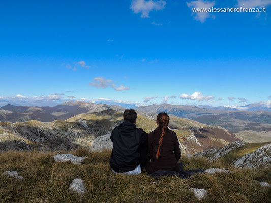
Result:
{"type": "Polygon", "coordinates": [[[205,109],[198,106],[149,105],[137,108],[145,112],[167,112],[178,117],[188,118],[208,125],[219,125],[228,130],[271,131],[271,112],[205,109]],[[263,124],[264,123],[264,124],[263,124]]]}

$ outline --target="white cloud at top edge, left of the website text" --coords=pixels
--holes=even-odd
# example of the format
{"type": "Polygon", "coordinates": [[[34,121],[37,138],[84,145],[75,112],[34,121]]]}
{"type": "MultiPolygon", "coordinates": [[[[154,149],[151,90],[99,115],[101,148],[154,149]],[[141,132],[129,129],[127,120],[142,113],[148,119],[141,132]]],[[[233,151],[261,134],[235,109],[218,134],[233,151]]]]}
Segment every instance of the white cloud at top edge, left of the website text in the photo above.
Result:
{"type": "Polygon", "coordinates": [[[141,18],[149,18],[150,11],[162,10],[165,8],[165,5],[166,2],[163,0],[133,0],[131,4],[131,9],[134,11],[134,13],[141,13],[141,18]]]}

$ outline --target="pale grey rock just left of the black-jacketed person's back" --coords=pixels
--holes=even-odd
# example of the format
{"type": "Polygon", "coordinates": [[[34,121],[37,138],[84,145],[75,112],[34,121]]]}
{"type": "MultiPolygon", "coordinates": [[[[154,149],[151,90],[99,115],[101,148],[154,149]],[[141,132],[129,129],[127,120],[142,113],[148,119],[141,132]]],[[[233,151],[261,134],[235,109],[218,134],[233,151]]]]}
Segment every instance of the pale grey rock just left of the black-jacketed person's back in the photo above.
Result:
{"type": "Polygon", "coordinates": [[[110,139],[110,134],[106,134],[105,136],[97,137],[89,150],[91,151],[100,151],[102,152],[105,149],[112,150],[113,143],[110,139]]]}

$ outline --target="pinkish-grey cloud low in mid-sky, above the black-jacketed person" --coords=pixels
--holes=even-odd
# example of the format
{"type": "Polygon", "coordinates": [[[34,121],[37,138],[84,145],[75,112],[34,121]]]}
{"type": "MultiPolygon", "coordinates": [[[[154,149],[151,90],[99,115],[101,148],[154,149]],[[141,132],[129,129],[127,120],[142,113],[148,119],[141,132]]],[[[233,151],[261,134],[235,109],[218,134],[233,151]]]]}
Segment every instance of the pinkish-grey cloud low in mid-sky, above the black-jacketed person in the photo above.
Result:
{"type": "Polygon", "coordinates": [[[97,89],[104,89],[110,86],[116,91],[124,91],[130,89],[130,87],[125,87],[124,85],[120,85],[119,87],[117,87],[113,80],[105,79],[104,77],[94,78],[93,82],[89,82],[88,85],[96,87],[97,89]]]}

